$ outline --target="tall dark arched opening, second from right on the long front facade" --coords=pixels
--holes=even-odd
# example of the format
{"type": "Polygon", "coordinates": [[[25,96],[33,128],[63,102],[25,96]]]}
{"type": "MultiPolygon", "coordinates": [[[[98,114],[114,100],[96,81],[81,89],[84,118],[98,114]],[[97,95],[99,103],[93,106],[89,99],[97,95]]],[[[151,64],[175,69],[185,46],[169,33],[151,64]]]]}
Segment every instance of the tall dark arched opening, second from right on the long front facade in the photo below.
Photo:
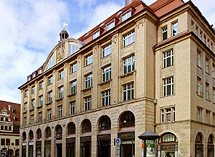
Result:
{"type": "Polygon", "coordinates": [[[97,136],[98,157],[111,156],[111,121],[108,116],[99,119],[97,136]]]}

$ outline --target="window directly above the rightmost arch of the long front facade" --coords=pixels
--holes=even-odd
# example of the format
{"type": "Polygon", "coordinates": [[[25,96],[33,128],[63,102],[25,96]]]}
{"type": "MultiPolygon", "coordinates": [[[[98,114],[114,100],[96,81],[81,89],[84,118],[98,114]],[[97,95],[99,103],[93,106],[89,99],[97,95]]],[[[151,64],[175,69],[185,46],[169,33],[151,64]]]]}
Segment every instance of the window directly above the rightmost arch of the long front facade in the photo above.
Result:
{"type": "Polygon", "coordinates": [[[134,83],[128,83],[123,86],[123,101],[134,98],[134,83]]]}

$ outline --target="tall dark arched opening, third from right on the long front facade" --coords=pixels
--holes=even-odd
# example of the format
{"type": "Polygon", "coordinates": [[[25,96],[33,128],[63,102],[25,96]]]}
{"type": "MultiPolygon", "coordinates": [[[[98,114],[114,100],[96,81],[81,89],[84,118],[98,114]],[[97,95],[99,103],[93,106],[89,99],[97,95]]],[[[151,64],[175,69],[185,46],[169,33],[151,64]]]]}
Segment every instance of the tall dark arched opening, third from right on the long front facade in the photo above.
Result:
{"type": "Polygon", "coordinates": [[[85,119],[81,129],[80,157],[91,157],[91,131],[91,122],[89,119],[85,119]]]}

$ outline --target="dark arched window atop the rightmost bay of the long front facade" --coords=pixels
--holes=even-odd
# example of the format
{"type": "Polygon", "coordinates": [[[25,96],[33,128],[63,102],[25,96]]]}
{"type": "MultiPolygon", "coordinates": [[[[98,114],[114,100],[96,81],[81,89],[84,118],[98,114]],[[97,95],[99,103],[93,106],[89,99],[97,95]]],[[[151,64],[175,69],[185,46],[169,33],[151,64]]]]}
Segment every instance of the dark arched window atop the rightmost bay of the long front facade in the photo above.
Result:
{"type": "Polygon", "coordinates": [[[135,126],[135,117],[134,114],[130,111],[123,113],[120,117],[119,127],[134,127],[135,126]]]}

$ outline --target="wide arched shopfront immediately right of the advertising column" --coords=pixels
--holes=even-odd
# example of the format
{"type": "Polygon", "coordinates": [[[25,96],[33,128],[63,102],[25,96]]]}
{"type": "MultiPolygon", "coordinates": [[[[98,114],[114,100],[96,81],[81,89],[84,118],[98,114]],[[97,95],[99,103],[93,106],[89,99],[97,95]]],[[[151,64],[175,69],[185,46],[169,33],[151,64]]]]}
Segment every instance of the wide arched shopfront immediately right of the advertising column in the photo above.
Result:
{"type": "Polygon", "coordinates": [[[173,133],[165,133],[158,143],[158,157],[178,156],[178,140],[173,133]]]}

